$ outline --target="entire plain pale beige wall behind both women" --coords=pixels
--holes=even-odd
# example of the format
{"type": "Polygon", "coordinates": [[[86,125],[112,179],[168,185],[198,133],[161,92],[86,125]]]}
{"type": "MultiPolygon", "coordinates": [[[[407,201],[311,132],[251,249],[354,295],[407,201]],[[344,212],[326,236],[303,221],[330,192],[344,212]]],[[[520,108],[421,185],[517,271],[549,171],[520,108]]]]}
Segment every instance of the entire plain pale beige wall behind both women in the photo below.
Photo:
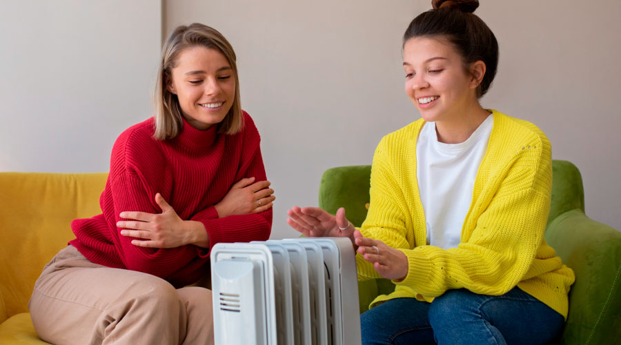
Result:
{"type": "MultiPolygon", "coordinates": [[[[108,170],[117,135],[152,113],[160,33],[199,21],[237,51],[277,190],[272,237],[293,236],[286,210],[317,204],[324,170],[370,164],[383,135],[419,117],[403,91],[400,37],[430,2],[2,1],[0,171],[108,170]]],[[[501,49],[483,105],[538,124],[553,157],[582,171],[586,213],[618,229],[620,12],[617,0],[477,10],[501,49]]]]}

